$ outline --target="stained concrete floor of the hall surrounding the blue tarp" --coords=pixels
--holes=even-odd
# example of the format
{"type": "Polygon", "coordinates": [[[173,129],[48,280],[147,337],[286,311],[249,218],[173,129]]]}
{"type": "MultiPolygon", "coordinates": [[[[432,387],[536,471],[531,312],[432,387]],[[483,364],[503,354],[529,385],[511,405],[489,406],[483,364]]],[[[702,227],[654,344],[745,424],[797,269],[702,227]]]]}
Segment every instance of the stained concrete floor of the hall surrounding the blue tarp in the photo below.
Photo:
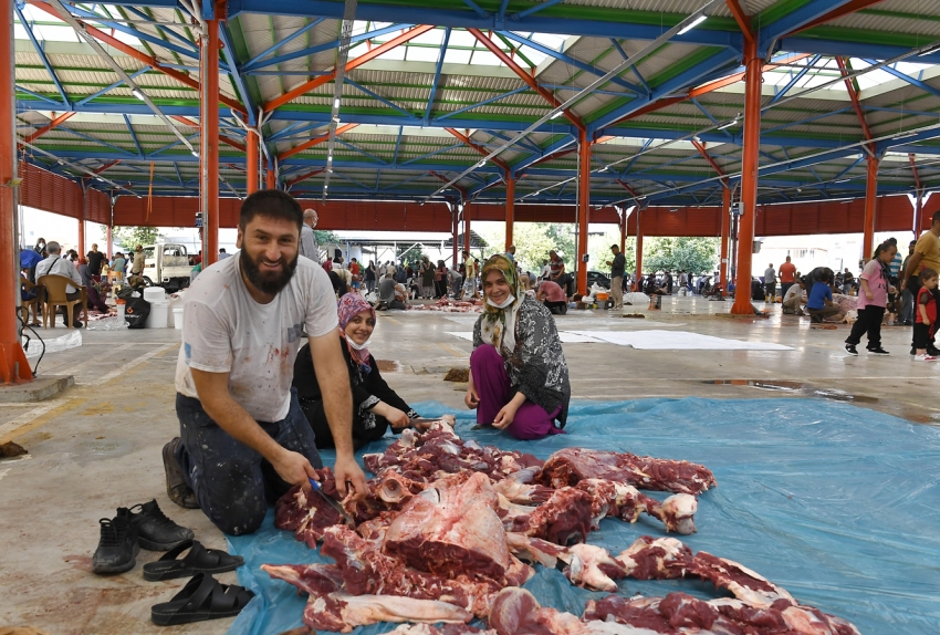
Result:
{"type": "MultiPolygon", "coordinates": [[[[572,391],[578,399],[700,396],[760,398],[823,396],[852,400],[912,421],[940,425],[934,407],[940,365],[907,355],[909,329],[885,327],[889,357],[852,357],[847,327],[811,330],[808,320],[780,315],[732,319],[731,303],[675,298],[661,311],[627,308],[624,319],[606,311],[558,316],[565,330],[676,329],[793,346],[787,352],[637,351],[608,344],[565,344],[572,391]]],[[[408,402],[435,399],[462,408],[463,385],[443,373],[466,366],[470,343],[447,331],[470,331],[473,316],[432,312],[382,315],[370,350],[396,371],[385,372],[408,402]]],[[[64,330],[42,332],[59,336],[64,330]]],[[[87,331],[79,348],[46,355],[40,373],[73,374],[75,386],[41,404],[0,405],[0,443],[15,440],[27,457],[0,461],[0,626],[32,625],[56,635],[84,633],[223,633],[231,620],[189,627],[156,627],[152,604],[169,600],[184,580],[150,583],[140,563],[159,554],[142,551],[123,575],[91,573],[98,518],[117,506],[156,498],[174,520],[208,546],[224,548],[222,534],[198,510],[182,510],[166,496],[161,446],[178,430],[174,371],[179,331],[87,331]]],[[[234,582],[236,574],[220,576],[234,582]]]]}

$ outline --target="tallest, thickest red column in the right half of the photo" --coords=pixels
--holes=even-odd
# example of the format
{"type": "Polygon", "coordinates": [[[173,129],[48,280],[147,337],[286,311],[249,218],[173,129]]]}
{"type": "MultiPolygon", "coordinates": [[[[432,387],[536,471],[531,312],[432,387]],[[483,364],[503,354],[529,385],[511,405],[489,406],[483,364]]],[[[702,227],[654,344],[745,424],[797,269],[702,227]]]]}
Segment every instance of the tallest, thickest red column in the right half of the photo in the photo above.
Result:
{"type": "Polygon", "coordinates": [[[754,220],[758,214],[758,150],[761,144],[761,83],[764,61],[758,56],[758,44],[744,40],[744,144],[742,150],[741,202],[744,216],[738,225],[738,280],[731,312],[753,315],[751,304],[751,257],[754,250],[754,220]]]}

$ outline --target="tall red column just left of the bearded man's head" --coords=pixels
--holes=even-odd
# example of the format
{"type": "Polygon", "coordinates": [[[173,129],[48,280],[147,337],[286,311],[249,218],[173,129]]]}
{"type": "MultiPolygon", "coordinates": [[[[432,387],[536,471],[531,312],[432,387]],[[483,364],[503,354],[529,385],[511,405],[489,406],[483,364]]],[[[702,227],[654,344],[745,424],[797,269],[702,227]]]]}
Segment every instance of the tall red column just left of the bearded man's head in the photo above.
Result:
{"type": "Polygon", "coordinates": [[[202,268],[219,259],[219,20],[206,21],[199,51],[199,194],[203,212],[202,268]]]}

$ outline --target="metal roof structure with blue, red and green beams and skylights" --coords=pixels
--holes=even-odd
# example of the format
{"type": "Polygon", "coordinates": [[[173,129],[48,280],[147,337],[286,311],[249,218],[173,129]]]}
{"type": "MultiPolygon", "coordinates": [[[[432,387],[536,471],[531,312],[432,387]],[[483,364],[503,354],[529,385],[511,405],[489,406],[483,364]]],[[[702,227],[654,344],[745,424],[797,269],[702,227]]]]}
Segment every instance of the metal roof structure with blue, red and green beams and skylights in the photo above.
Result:
{"type": "MultiPolygon", "coordinates": [[[[22,158],[115,196],[197,196],[199,157],[180,137],[198,147],[198,27],[213,6],[200,15],[189,0],[63,4],[175,129],[55,7],[19,0],[22,158]]],[[[761,202],[861,197],[869,152],[882,157],[878,194],[937,187],[940,2],[711,2],[694,29],[637,55],[703,4],[361,1],[328,173],[344,3],[229,0],[221,196],[244,194],[250,126],[280,186],[297,196],[325,196],[328,178],[330,199],[501,201],[514,178],[518,201],[570,205],[583,126],[592,205],[714,205],[721,179],[740,178],[745,15],[766,60],[761,202]],[[481,162],[625,61],[624,73],[481,162]]]]}

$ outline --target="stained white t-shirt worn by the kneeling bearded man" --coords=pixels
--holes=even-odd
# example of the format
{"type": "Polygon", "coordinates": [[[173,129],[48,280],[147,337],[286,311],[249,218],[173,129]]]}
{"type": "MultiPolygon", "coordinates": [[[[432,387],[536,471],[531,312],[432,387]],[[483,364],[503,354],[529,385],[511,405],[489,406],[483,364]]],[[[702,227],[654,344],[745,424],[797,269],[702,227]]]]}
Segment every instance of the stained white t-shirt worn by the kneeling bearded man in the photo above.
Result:
{"type": "Polygon", "coordinates": [[[229,373],[229,393],[249,415],[280,421],[291,407],[301,339],[340,326],[336,295],[326,272],[300,257],[290,283],[259,304],[241,279],[240,260],[220,260],[186,290],[176,389],[199,398],[190,368],[229,373]]]}

